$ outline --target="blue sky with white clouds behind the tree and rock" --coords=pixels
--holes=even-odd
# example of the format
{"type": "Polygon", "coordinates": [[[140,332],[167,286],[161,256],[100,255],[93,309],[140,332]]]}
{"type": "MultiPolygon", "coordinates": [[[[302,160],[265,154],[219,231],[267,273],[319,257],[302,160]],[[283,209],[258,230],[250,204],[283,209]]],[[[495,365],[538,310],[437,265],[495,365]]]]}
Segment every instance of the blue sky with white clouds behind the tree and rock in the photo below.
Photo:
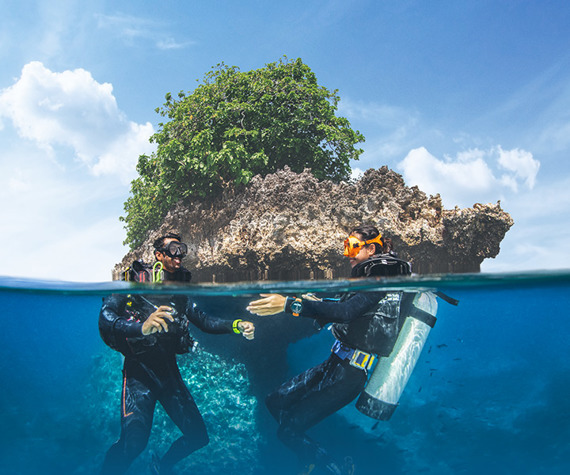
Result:
{"type": "Polygon", "coordinates": [[[284,55],[338,89],[355,173],[501,201],[515,226],[484,272],[568,269],[569,24],[564,0],[4,0],[0,274],[108,280],[165,94],[284,55]]]}

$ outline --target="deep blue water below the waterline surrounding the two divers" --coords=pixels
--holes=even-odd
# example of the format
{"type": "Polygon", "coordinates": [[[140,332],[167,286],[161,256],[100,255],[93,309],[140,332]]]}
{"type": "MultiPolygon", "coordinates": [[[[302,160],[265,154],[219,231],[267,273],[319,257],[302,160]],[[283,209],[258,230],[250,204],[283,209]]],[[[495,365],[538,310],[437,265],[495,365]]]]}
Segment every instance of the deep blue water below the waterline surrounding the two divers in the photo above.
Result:
{"type": "MultiPolygon", "coordinates": [[[[324,361],[333,338],[308,319],[249,315],[246,304],[260,292],[375,288],[440,290],[459,305],[439,300],[437,323],[389,421],[352,402],[310,429],[312,438],[340,459],[352,457],[355,474],[570,473],[568,271],[172,287],[211,314],[257,327],[253,341],[192,329],[200,349],[178,362],[210,444],[179,472],[297,473],[264,397],[324,361]]],[[[121,282],[0,278],[1,474],[99,472],[120,431],[122,356],[97,327],[111,292],[142,291],[121,282]]],[[[157,406],[149,445],[128,473],[148,473],[151,451],[164,453],[178,436],[157,406]]]]}

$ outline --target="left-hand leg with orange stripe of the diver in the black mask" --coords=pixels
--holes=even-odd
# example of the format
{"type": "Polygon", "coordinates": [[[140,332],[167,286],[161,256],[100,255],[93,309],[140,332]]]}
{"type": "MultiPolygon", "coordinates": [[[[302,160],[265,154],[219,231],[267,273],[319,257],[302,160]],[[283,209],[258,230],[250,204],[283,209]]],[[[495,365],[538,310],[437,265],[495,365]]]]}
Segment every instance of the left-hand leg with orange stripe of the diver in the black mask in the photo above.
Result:
{"type": "Polygon", "coordinates": [[[141,371],[140,368],[125,362],[121,397],[121,437],[105,456],[101,470],[105,475],[125,473],[148,442],[156,398],[141,371]]]}

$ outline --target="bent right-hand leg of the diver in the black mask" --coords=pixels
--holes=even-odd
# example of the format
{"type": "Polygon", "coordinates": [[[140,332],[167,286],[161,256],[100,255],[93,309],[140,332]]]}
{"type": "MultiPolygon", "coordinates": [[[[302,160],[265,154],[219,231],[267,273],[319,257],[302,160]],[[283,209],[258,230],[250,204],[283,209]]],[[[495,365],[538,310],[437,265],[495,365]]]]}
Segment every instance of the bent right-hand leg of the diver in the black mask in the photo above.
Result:
{"type": "Polygon", "coordinates": [[[204,419],[180,373],[176,371],[171,378],[169,390],[159,397],[159,401],[181,430],[182,436],[173,442],[160,460],[161,473],[167,473],[180,460],[208,445],[210,441],[204,419]]]}

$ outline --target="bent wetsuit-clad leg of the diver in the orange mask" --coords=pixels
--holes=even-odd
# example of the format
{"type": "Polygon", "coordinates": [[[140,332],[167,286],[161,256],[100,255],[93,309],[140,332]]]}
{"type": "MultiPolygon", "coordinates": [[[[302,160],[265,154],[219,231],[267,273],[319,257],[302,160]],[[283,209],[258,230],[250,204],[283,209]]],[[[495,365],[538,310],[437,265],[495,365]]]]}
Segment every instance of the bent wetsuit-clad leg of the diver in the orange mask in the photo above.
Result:
{"type": "Polygon", "coordinates": [[[316,463],[331,473],[340,473],[327,452],[305,431],[354,400],[365,383],[364,371],[331,355],[321,365],[281,385],[266,400],[279,422],[279,439],[302,464],[316,463]]]}

